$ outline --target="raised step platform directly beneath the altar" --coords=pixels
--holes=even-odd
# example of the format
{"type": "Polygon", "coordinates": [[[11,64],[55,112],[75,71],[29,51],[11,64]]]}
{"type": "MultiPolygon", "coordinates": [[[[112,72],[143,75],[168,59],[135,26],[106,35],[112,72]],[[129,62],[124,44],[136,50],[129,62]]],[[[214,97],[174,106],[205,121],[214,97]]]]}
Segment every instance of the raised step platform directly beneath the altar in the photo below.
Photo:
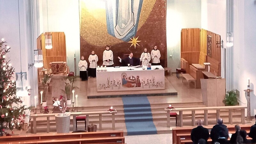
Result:
{"type": "Polygon", "coordinates": [[[87,98],[118,98],[124,95],[138,95],[145,94],[147,96],[177,96],[178,92],[174,89],[172,84],[168,81],[167,78],[164,80],[165,89],[162,90],[139,90],[139,91],[122,91],[122,92],[97,92],[97,81],[96,78],[88,79],[87,87],[87,98]]]}

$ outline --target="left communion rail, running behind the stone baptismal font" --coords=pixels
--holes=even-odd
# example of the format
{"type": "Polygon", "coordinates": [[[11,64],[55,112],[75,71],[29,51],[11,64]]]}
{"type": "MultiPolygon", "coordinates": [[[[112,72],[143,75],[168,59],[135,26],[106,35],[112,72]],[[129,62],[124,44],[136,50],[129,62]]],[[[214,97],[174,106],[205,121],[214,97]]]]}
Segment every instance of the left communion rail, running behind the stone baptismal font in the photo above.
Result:
{"type": "MultiPolygon", "coordinates": [[[[112,130],[115,130],[115,114],[117,111],[87,111],[87,112],[70,112],[70,115],[73,116],[73,131],[76,131],[76,116],[86,116],[86,125],[85,128],[87,130],[87,126],[89,124],[89,115],[99,115],[99,127],[102,129],[102,115],[103,114],[112,114],[112,130]]],[[[31,122],[31,132],[36,133],[36,118],[37,117],[46,117],[47,119],[47,133],[50,132],[50,117],[55,117],[58,113],[51,114],[31,114],[30,118],[33,118],[33,123],[31,122]]]]}

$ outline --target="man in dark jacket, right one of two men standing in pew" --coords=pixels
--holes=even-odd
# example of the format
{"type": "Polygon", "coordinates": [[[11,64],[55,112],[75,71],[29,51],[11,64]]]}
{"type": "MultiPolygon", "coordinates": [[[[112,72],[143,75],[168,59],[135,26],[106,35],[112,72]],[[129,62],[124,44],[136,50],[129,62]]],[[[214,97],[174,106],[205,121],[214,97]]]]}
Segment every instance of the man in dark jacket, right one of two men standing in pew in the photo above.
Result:
{"type": "Polygon", "coordinates": [[[212,143],[219,142],[220,144],[228,143],[228,128],[223,124],[223,119],[219,118],[217,121],[218,124],[212,127],[210,137],[212,143]]]}

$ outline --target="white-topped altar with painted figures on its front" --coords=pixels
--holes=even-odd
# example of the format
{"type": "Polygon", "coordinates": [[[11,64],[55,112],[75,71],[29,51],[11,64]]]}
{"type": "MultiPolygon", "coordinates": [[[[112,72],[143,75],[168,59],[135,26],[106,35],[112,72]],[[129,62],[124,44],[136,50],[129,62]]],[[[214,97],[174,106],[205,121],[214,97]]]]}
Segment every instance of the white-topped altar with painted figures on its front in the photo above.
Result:
{"type": "Polygon", "coordinates": [[[160,65],[97,68],[97,92],[160,90],[165,88],[164,68],[160,65]]]}

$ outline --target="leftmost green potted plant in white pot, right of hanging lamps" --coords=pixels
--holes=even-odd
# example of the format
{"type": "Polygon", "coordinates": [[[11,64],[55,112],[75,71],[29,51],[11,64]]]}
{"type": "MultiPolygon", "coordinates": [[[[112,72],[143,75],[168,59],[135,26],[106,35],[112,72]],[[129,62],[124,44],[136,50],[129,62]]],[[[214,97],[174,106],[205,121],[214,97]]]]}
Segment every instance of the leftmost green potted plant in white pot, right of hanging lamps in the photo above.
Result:
{"type": "MultiPolygon", "coordinates": [[[[48,71],[49,72],[49,71],[48,71]]],[[[45,107],[47,105],[47,99],[48,99],[48,84],[50,83],[50,79],[51,79],[52,75],[50,75],[49,73],[47,73],[46,75],[44,75],[43,78],[41,78],[42,81],[42,85],[44,87],[44,91],[43,91],[43,107],[45,107]]]]}

